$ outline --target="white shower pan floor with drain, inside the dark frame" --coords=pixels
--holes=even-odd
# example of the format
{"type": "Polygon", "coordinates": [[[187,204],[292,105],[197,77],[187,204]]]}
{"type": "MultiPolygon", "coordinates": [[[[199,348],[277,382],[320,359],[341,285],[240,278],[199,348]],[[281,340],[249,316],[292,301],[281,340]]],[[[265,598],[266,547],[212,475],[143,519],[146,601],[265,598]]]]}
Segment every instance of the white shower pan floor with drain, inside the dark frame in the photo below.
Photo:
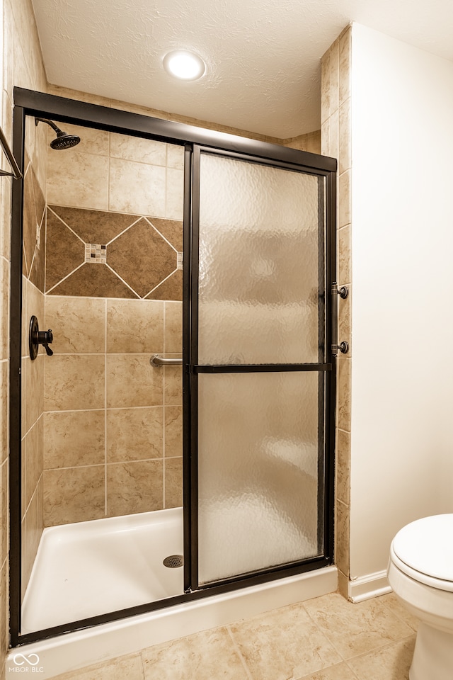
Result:
{"type": "Polygon", "coordinates": [[[182,595],[183,509],[46,528],[22,608],[22,633],[182,595]]]}

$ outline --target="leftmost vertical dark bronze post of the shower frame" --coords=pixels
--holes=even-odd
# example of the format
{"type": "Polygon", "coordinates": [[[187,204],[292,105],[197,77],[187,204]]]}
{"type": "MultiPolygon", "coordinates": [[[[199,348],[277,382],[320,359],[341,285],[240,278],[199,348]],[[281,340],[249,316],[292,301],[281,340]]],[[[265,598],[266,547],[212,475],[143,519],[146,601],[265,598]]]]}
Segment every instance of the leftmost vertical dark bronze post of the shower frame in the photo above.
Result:
{"type": "MultiPolygon", "coordinates": [[[[24,174],[25,112],[21,106],[13,113],[13,155],[24,174]]],[[[11,645],[20,640],[22,589],[22,231],[23,183],[13,182],[11,197],[11,298],[9,368],[9,608],[11,645]]]]}

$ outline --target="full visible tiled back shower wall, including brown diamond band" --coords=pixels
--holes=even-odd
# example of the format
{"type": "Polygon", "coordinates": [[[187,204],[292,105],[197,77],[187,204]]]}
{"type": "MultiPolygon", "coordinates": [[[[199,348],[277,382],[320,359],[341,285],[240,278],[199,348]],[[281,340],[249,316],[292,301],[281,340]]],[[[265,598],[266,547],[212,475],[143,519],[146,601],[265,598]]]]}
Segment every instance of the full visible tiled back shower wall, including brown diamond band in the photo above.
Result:
{"type": "Polygon", "coordinates": [[[80,145],[48,154],[47,526],[182,502],[180,369],[149,359],[182,348],[183,147],[66,129],[80,145]]]}

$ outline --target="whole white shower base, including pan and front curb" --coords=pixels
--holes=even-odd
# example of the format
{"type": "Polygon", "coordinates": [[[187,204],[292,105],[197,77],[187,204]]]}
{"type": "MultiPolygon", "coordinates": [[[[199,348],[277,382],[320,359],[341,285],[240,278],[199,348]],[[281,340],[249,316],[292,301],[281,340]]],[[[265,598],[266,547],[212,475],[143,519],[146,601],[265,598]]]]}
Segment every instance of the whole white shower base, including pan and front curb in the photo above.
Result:
{"type": "MultiPolygon", "coordinates": [[[[182,553],[180,508],[48,528],[25,594],[23,632],[182,594],[183,569],[162,565],[164,557],[182,553]]],[[[337,585],[336,567],[324,567],[21,645],[6,657],[6,678],[21,672],[24,658],[33,663],[38,658],[30,671],[47,680],[335,592],[337,585]]]]}

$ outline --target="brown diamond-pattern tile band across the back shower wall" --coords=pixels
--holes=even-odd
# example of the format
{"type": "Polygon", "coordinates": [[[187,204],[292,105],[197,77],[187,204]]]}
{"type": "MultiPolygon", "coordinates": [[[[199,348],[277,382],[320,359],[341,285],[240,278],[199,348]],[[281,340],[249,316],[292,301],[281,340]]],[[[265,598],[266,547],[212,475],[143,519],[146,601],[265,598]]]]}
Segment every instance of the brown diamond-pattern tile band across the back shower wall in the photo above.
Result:
{"type": "Polygon", "coordinates": [[[47,293],[182,300],[182,221],[55,205],[46,224],[47,293]]]}

